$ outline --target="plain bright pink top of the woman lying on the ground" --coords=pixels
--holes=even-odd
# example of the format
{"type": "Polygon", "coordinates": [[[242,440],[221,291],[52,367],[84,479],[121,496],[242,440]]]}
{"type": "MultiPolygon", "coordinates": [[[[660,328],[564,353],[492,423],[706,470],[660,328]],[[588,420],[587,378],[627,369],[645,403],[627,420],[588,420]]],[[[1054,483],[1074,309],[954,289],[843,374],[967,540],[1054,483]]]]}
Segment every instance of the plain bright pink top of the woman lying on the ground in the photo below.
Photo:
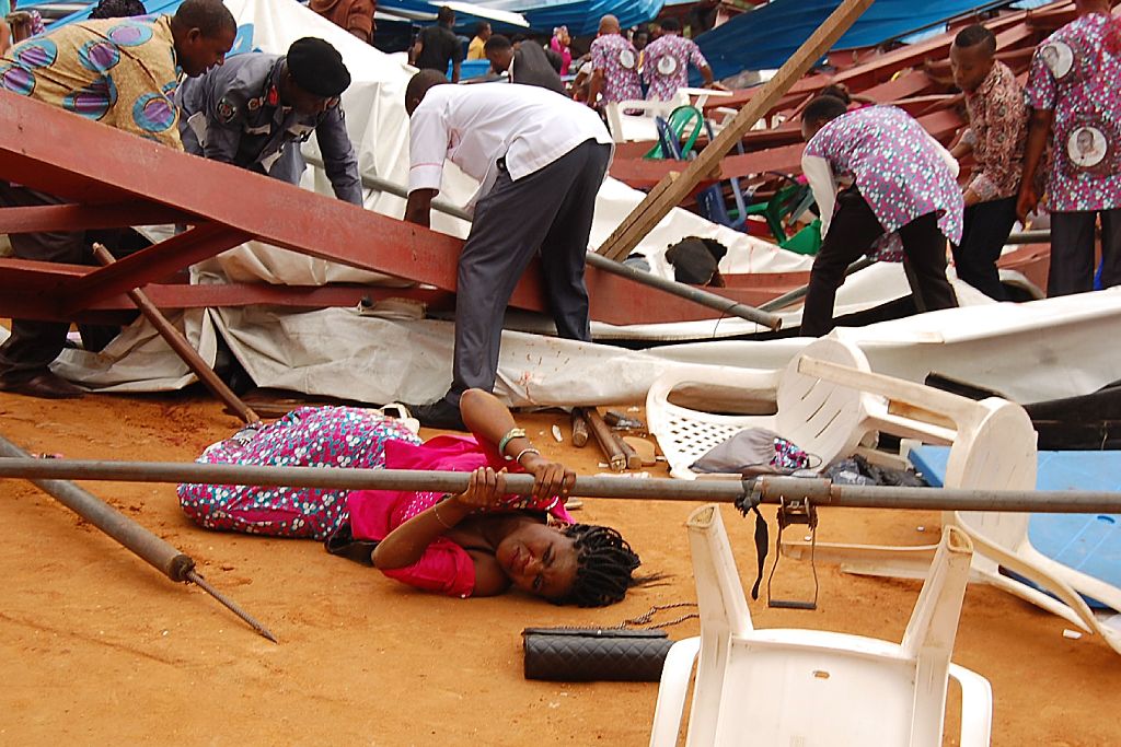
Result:
{"type": "MultiPolygon", "coordinates": [[[[388,441],[385,448],[387,469],[472,471],[484,465],[494,469],[506,467],[511,473],[524,471],[517,463],[504,460],[493,446],[480,445],[471,437],[437,436],[423,445],[388,441]]],[[[359,540],[383,540],[391,531],[439,503],[443,497],[443,493],[430,492],[354,491],[346,498],[351,531],[359,540]]],[[[507,510],[517,508],[548,511],[558,520],[572,523],[564,503],[556,497],[538,503],[532,498],[510,496],[507,510]]],[[[433,540],[416,563],[407,568],[382,570],[382,573],[418,589],[452,597],[470,597],[475,586],[475,568],[471,555],[444,536],[433,540]]]]}

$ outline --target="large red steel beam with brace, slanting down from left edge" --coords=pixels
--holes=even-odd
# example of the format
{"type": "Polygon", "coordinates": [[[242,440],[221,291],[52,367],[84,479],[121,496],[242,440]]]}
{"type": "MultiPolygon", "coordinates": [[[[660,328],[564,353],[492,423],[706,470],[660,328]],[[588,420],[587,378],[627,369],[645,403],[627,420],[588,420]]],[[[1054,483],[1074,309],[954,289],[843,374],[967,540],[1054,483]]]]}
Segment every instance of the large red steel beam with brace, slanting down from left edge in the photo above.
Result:
{"type": "MultiPolygon", "coordinates": [[[[458,239],[182,153],[24,96],[0,92],[0,178],[85,203],[148,200],[211,222],[111,267],[68,279],[58,289],[66,312],[161,280],[247,237],[455,290],[463,246],[458,239]]],[[[594,319],[637,324],[717,316],[594,268],[586,277],[594,319]]],[[[530,269],[515,289],[511,305],[547,312],[541,291],[540,272],[530,269]]],[[[739,300],[731,291],[728,296],[739,300]]]]}

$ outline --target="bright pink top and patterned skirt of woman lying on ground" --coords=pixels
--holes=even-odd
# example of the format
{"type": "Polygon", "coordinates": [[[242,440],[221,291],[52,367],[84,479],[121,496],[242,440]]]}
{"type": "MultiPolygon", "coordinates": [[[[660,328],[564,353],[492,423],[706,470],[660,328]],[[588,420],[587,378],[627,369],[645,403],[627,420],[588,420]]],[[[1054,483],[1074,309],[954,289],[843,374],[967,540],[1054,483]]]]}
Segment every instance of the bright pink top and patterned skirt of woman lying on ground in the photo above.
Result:
{"type": "MultiPolygon", "coordinates": [[[[247,428],[214,443],[203,464],[351,469],[439,469],[471,471],[490,465],[524,471],[498,449],[472,437],[437,436],[421,443],[408,428],[379,412],[359,408],[300,408],[270,426],[247,428]]],[[[349,521],[354,538],[383,540],[391,531],[444,498],[430,491],[345,491],[252,485],[179,485],[183,512],[206,529],[325,540],[349,521]]],[[[546,512],[571,524],[558,496],[545,501],[507,496],[495,511],[546,512]]],[[[469,597],[475,570],[466,550],[436,538],[421,558],[382,573],[409,586],[469,597]]]]}

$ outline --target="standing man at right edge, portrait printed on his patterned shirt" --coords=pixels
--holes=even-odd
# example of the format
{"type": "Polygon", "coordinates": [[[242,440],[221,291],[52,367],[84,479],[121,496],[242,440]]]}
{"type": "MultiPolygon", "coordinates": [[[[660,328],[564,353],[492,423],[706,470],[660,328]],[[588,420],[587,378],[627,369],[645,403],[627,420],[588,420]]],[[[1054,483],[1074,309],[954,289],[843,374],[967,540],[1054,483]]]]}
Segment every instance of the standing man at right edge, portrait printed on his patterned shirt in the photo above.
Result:
{"type": "Polygon", "coordinates": [[[1048,296],[1093,290],[1094,224],[1102,221],[1102,286],[1121,284],[1121,26],[1109,0],[1075,0],[1077,18],[1036,49],[1020,217],[1039,203],[1035,176],[1048,140],[1051,213],[1048,296]]]}

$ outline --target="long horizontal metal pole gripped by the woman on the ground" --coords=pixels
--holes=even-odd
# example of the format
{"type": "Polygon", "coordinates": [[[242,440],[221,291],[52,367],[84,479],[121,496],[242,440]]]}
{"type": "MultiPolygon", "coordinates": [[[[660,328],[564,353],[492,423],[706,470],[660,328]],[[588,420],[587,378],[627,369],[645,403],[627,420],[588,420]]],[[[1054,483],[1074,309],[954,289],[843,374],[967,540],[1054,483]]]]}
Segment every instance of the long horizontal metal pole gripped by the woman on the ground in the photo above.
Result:
{"type": "MultiPolygon", "coordinates": [[[[0,459],[0,477],[460,493],[466,489],[469,474],[414,469],[10,458],[0,459]]],[[[530,475],[507,475],[506,483],[507,489],[511,493],[527,495],[532,492],[534,478],[530,475]]],[[[1121,513],[1121,493],[873,487],[834,485],[827,479],[798,477],[758,477],[744,480],[577,477],[572,495],[593,498],[732,503],[742,497],[744,492],[752,489],[759,491],[763,503],[778,503],[784,497],[808,497],[821,506],[850,508],[1121,513]]]]}

